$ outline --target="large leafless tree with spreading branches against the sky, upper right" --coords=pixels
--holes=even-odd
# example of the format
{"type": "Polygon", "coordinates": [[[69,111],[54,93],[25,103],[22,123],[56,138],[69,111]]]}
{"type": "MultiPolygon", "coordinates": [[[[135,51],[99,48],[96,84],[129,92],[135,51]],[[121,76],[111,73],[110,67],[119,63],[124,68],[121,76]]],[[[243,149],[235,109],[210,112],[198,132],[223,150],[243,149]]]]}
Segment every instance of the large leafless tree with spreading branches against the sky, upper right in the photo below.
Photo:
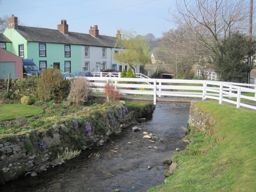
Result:
{"type": "Polygon", "coordinates": [[[249,6],[244,0],[176,0],[176,11],[169,13],[169,21],[200,45],[195,51],[209,56],[231,32],[247,30],[249,6]]]}

